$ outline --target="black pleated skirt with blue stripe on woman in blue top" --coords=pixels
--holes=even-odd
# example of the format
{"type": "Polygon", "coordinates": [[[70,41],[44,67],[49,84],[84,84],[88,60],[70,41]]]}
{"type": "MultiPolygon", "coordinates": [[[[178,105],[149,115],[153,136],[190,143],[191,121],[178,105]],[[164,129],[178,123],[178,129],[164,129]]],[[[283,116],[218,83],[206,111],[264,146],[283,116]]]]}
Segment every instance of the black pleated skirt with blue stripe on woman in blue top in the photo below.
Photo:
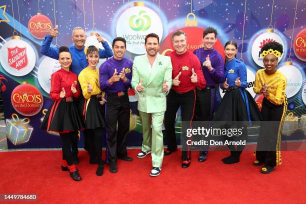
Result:
{"type": "Polygon", "coordinates": [[[251,94],[245,89],[236,88],[224,94],[213,120],[260,121],[261,115],[251,94]]]}

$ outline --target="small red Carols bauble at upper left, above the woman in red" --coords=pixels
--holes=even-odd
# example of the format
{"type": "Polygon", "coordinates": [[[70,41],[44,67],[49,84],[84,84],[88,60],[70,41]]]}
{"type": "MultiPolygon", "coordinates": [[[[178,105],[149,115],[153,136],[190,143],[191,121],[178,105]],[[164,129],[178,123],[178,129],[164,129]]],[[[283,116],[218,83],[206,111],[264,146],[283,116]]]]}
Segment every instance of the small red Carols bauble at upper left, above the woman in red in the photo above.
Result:
{"type": "Polygon", "coordinates": [[[33,37],[44,39],[45,35],[52,29],[52,22],[47,16],[37,13],[29,19],[27,28],[33,37]]]}

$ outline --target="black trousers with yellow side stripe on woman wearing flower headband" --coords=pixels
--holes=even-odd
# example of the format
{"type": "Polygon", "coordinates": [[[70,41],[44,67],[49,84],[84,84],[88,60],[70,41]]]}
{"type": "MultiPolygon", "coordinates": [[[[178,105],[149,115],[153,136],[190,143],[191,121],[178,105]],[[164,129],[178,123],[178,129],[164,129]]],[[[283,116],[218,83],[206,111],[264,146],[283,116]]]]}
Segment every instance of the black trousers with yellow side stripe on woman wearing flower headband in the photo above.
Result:
{"type": "Polygon", "coordinates": [[[265,165],[275,166],[281,164],[281,131],[286,110],[286,95],[281,105],[275,105],[266,98],[262,100],[261,116],[263,122],[261,123],[257,142],[256,160],[263,162],[265,165]],[[267,124],[264,121],[273,121],[273,123],[267,124]]]}

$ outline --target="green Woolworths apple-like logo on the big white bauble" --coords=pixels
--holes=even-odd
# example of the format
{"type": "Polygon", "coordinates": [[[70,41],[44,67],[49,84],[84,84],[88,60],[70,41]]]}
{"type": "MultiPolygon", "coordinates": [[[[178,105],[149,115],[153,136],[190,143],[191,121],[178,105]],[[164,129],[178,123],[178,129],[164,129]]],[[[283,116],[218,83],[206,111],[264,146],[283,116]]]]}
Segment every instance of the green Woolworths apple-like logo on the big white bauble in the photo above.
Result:
{"type": "Polygon", "coordinates": [[[151,25],[151,18],[145,15],[145,10],[140,10],[137,15],[132,15],[128,19],[129,26],[134,31],[145,31],[151,25]],[[136,19],[135,19],[136,18],[136,19]]]}

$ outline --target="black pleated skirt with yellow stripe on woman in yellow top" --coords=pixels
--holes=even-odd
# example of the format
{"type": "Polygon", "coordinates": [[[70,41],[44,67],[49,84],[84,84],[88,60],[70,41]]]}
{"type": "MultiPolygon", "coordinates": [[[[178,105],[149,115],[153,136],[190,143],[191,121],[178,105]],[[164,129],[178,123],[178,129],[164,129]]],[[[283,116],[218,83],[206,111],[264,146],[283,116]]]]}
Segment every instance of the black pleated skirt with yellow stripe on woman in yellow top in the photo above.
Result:
{"type": "Polygon", "coordinates": [[[78,109],[86,129],[105,127],[104,104],[100,104],[101,97],[92,95],[89,99],[82,98],[78,109]]]}

